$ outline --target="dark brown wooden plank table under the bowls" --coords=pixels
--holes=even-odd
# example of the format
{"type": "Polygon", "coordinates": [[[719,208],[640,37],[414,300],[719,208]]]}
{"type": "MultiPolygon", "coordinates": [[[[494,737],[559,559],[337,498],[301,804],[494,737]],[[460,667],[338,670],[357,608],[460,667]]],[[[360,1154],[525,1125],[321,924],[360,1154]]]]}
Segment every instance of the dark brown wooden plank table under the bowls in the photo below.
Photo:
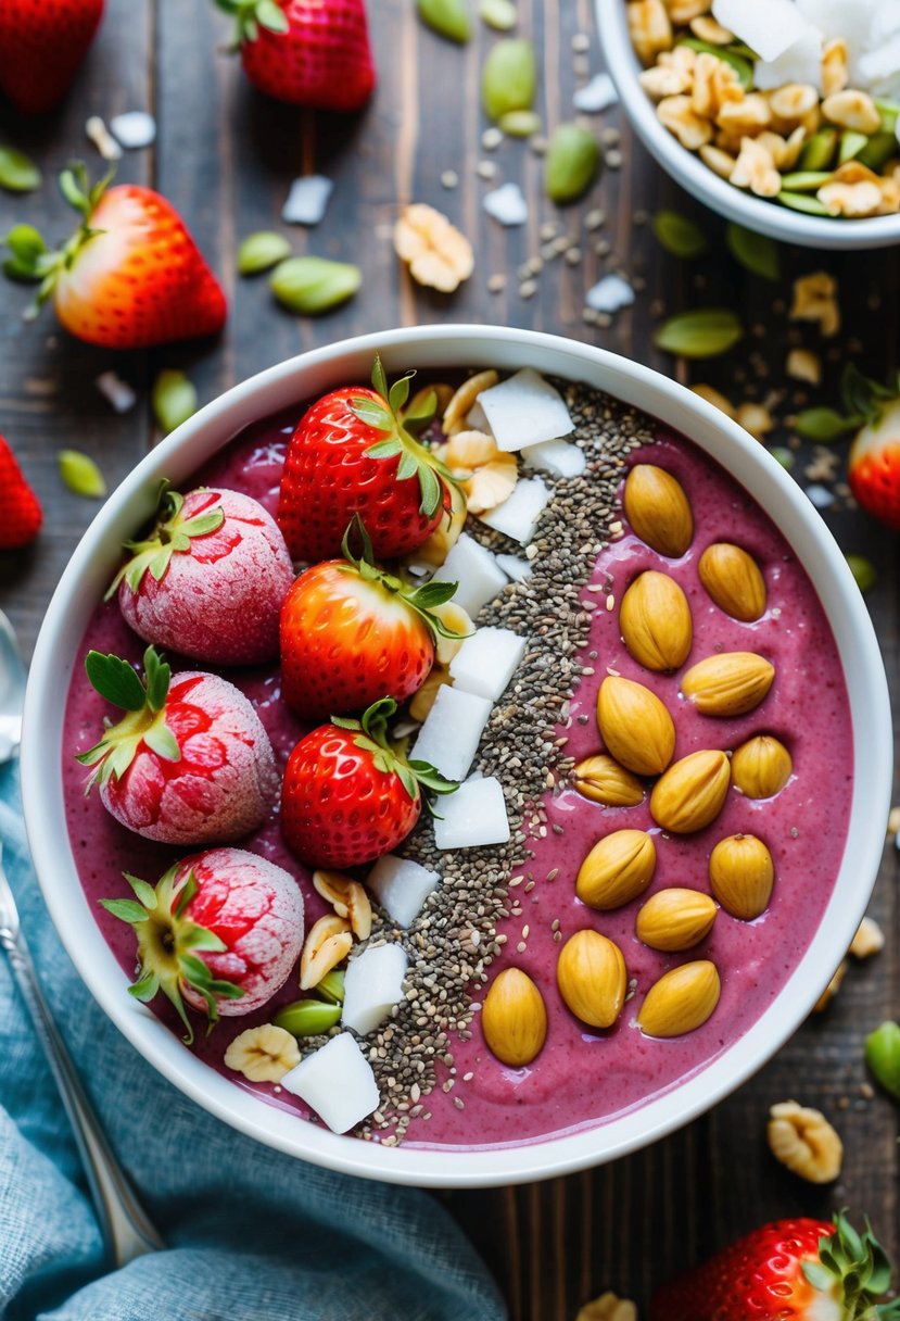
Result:
{"type": "MultiPolygon", "coordinates": [[[[593,123],[598,133],[620,128],[620,168],[607,168],[583,203],[560,211],[544,199],[541,160],[528,144],[508,140],[494,152],[482,147],[487,124],[479,110],[479,70],[495,36],[482,29],[462,49],[421,28],[410,0],[371,0],[368,8],[380,86],[366,115],[340,123],[256,95],[238,63],[216,53],[226,24],[206,0],[107,0],[102,32],[66,106],[33,124],[17,123],[8,108],[1,112],[0,136],[41,162],[45,185],[30,198],[0,197],[0,232],[30,218],[55,242],[69,232],[71,213],[53,186],[54,174],[73,156],[84,156],[99,173],[84,140],[88,114],[108,119],[123,110],[150,110],[158,119],[156,148],[127,153],[119,178],[150,184],[172,199],[231,300],[226,333],[215,343],[113,355],[69,338],[49,312],[34,324],[22,322],[26,291],[1,287],[0,429],[46,510],[37,544],[0,557],[0,605],[29,651],[54,584],[95,509],[61,485],[57,450],[75,446],[94,454],[113,486],[157,439],[148,392],[164,366],[186,370],[205,402],[271,363],[344,336],[416,322],[496,321],[599,343],[685,382],[713,380],[734,399],[763,398],[769,388],[790,384],[784,359],[797,333],[785,312],[789,280],[827,268],[841,281],[845,332],[831,341],[839,347],[829,349],[809,328],[802,341],[826,353],[830,376],[851,350],[870,375],[896,369],[896,254],[837,259],[785,250],[780,285],[750,276],[726,252],[723,223],[659,172],[616,110],[593,123]],[[483,213],[480,198],[495,185],[482,177],[484,166],[479,173],[482,161],[496,165],[498,182],[521,184],[529,202],[521,229],[503,230],[483,213]],[[313,170],[335,181],[327,221],[309,231],[282,227],[278,217],[290,180],[313,170]],[[458,174],[457,188],[442,186],[445,170],[458,174]],[[474,242],[475,275],[451,297],[414,287],[395,259],[392,222],[409,201],[445,210],[474,242]],[[710,236],[710,255],[698,263],[668,256],[647,223],[660,206],[697,218],[710,236]],[[598,207],[606,223],[589,231],[585,215],[598,207]],[[570,234],[583,258],[571,266],[565,258],[548,263],[537,291],[523,297],[517,272],[538,255],[540,229],[548,222],[570,234]],[[297,252],[356,262],[364,272],[359,295],[318,321],[298,320],[273,303],[265,279],[238,279],[238,242],[272,227],[285,229],[297,252]],[[594,250],[598,239],[610,244],[607,256],[594,250]],[[616,268],[636,277],[640,293],[633,309],[600,330],[582,320],[583,292],[616,268]],[[498,273],[507,275],[507,284],[492,293],[488,280],[498,273]],[[742,310],[748,336],[739,349],[691,367],[657,353],[652,334],[662,308],[699,304],[742,310]],[[139,395],[137,407],[123,416],[94,383],[110,367],[139,395]],[[744,384],[738,383],[742,374],[744,384]]],[[[573,118],[574,87],[589,69],[600,67],[591,4],[519,0],[519,32],[532,37],[540,53],[538,108],[553,125],[573,118]],[[573,46],[573,38],[579,34],[590,36],[587,55],[575,54],[579,44],[573,46]]],[[[816,402],[835,402],[829,390],[820,394],[816,402]]],[[[783,411],[789,407],[783,404],[783,411]]],[[[802,468],[801,458],[796,472],[802,474],[802,468]]],[[[868,601],[896,688],[896,540],[858,513],[830,511],[826,518],[846,550],[862,551],[878,565],[879,584],[868,601]]],[[[872,830],[882,828],[872,822],[872,830]]],[[[827,1011],[808,1021],[736,1095],[612,1165],[541,1185],[446,1196],[495,1271],[513,1317],[567,1321],[607,1288],[636,1299],[645,1316],[656,1281],[731,1236],[767,1218],[829,1215],[845,1205],[858,1218],[868,1211],[897,1256],[897,1108],[884,1095],[860,1091],[863,1037],[900,1012],[896,872],[897,853],[889,849],[871,909],[889,934],[884,952],[854,966],[827,1011]],[[789,1096],[823,1108],[837,1123],[846,1144],[837,1186],[801,1182],[768,1153],[768,1107],[789,1096]]]]}

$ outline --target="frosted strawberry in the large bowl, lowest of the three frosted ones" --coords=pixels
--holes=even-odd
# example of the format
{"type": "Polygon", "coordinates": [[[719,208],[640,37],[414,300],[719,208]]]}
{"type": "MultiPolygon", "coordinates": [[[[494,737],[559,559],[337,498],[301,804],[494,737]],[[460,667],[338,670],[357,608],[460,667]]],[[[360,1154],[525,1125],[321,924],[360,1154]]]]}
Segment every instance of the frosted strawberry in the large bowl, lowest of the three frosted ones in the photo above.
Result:
{"type": "Polygon", "coordinates": [[[240,848],[185,857],[156,886],[129,876],[133,900],[100,900],[137,938],[129,991],[148,1001],[162,991],[187,1029],[185,1001],[205,1012],[241,1015],[271,1000],[304,943],[304,900],[293,876],[240,848]]]}

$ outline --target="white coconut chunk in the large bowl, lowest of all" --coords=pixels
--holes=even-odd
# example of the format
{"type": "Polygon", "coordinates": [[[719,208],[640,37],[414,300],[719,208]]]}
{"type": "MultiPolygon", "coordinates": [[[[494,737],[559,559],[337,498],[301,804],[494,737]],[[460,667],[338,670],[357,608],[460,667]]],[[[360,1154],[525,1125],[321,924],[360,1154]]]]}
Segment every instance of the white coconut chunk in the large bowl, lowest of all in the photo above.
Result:
{"type": "Polygon", "coordinates": [[[372,1066],[348,1032],[301,1059],[281,1086],[305,1100],[334,1133],[346,1133],[379,1104],[372,1066]]]}

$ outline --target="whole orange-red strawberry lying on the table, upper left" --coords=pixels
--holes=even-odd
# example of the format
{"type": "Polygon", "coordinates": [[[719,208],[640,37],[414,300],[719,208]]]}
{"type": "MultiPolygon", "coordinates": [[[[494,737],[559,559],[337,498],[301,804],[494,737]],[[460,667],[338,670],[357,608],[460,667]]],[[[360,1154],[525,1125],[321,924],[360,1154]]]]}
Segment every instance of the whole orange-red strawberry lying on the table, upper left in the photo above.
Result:
{"type": "Polygon", "coordinates": [[[82,215],[77,232],[49,251],[30,225],[5,238],[15,280],[40,280],[37,308],[53,297],[71,334],[104,349],[146,349],[218,334],[226,299],[176,209],[137,184],[90,186],[83,165],[59,186],[82,215]]]}

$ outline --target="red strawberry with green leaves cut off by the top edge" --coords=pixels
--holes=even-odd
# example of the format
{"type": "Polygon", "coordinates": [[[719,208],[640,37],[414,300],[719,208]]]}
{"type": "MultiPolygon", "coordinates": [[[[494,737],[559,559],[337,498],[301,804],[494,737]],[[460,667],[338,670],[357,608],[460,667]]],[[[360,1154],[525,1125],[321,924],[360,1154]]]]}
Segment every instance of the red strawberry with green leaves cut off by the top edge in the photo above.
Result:
{"type": "Polygon", "coordinates": [[[260,91],[294,106],[360,110],[375,87],[363,0],[216,0],[260,91]]]}

